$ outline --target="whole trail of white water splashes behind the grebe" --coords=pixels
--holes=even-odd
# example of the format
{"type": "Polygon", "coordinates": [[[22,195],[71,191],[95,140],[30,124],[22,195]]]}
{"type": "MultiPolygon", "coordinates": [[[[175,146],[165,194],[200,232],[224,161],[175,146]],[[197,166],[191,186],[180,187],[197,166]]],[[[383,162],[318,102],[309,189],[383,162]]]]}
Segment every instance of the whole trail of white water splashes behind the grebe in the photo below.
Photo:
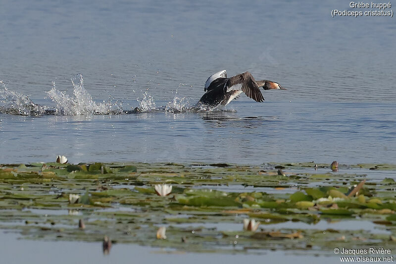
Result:
{"type": "Polygon", "coordinates": [[[59,91],[55,82],[52,88],[46,92],[46,98],[52,100],[55,106],[41,106],[33,103],[28,96],[8,90],[0,80],[0,113],[40,116],[51,115],[93,115],[93,114],[129,114],[138,112],[210,112],[221,110],[221,107],[209,107],[200,104],[191,104],[190,98],[179,97],[177,90],[172,101],[166,106],[156,106],[154,97],[147,91],[143,93],[143,99],[139,100],[139,107],[134,110],[124,110],[122,101],[115,101],[109,95],[107,101],[97,103],[84,88],[82,74],[75,75],[71,82],[73,94],[59,91]]]}

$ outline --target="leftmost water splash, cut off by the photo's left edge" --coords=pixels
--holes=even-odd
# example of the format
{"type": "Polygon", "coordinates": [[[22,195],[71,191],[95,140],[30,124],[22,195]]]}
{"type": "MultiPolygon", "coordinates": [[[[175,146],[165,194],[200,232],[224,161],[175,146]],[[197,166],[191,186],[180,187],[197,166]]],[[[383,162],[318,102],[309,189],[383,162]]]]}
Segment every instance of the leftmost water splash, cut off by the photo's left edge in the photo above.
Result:
{"type": "Polygon", "coordinates": [[[47,110],[46,106],[33,103],[28,96],[8,90],[0,80],[0,113],[40,116],[47,110]]]}

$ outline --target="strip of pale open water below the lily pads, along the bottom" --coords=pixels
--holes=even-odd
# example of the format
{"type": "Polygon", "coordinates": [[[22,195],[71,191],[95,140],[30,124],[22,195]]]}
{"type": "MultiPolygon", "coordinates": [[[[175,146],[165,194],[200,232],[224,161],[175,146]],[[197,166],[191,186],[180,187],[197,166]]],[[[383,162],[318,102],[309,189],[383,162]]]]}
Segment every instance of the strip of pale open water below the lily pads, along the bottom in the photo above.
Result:
{"type": "MultiPolygon", "coordinates": [[[[32,241],[17,239],[18,235],[12,233],[1,234],[4,239],[2,244],[2,261],[4,263],[125,263],[126,260],[135,260],[141,264],[157,263],[161,259],[163,263],[185,264],[186,260],[192,264],[213,263],[216,259],[230,264],[246,262],[247,258],[250,262],[260,263],[263,258],[276,258],[277,263],[285,264],[305,264],[307,262],[318,262],[321,264],[333,264],[337,260],[332,257],[315,257],[310,255],[295,255],[295,252],[286,251],[256,251],[255,254],[201,254],[201,253],[187,253],[144,247],[136,244],[115,244],[111,249],[109,255],[103,256],[100,252],[102,243],[83,243],[83,242],[66,242],[57,241],[32,241]],[[20,249],[30,249],[29,254],[20,254],[20,249]],[[50,248],[51,250],[48,250],[50,248]],[[73,254],[70,254],[70,253],[73,254]],[[173,253],[173,254],[172,254],[173,253]],[[45,256],[45,261],[43,261],[45,256]]],[[[249,252],[250,253],[250,252],[249,252]]],[[[253,252],[251,252],[253,253],[253,252]]]]}

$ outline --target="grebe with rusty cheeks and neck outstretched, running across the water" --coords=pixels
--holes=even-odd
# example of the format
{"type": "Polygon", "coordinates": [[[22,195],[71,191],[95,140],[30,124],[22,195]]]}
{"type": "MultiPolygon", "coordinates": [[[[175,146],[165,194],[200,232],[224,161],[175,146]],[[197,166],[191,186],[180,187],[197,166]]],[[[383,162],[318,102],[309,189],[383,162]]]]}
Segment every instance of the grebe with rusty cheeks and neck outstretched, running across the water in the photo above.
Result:
{"type": "Polygon", "coordinates": [[[205,94],[199,100],[198,105],[210,107],[226,106],[242,93],[245,93],[247,97],[256,102],[264,102],[260,87],[264,90],[287,90],[276,82],[268,80],[256,81],[248,71],[227,78],[227,71],[222,70],[207,78],[204,87],[205,94]]]}

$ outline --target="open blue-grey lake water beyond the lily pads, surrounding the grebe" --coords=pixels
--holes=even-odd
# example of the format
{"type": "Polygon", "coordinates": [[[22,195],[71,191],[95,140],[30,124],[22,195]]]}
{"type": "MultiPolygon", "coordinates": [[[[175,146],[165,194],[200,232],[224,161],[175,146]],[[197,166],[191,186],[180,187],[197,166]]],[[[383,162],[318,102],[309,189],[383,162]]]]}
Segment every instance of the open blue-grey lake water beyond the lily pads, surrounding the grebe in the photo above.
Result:
{"type": "Polygon", "coordinates": [[[3,0],[0,106],[67,111],[0,113],[0,163],[395,163],[395,17],[333,9],[353,10],[342,0],[3,0]],[[198,102],[222,69],[288,91],[172,112],[198,102]],[[78,114],[136,106],[168,111],[78,114]]]}

